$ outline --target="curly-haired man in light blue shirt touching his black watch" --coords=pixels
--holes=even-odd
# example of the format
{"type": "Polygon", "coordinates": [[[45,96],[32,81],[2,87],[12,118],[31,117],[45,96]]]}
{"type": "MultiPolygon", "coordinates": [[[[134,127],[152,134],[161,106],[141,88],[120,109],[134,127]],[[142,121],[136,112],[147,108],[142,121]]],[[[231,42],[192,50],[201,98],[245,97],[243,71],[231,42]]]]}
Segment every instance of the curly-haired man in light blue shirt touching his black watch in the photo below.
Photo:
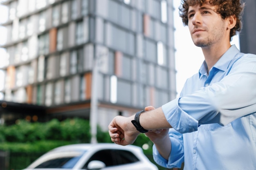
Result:
{"type": "Polygon", "coordinates": [[[115,117],[109,125],[113,142],[132,144],[146,132],[161,166],[256,170],[256,55],[230,44],[243,6],[240,0],[182,1],[182,21],[205,58],[199,73],[162,107],[115,117]]]}

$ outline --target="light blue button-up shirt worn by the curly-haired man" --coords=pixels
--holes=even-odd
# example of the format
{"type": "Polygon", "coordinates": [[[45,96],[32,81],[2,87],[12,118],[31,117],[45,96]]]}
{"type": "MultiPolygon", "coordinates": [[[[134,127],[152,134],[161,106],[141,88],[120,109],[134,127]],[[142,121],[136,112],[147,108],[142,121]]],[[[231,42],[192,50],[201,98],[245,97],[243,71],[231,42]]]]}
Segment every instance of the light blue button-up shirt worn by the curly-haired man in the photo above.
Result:
{"type": "Polygon", "coordinates": [[[236,46],[209,75],[205,62],[187,79],[179,98],[162,106],[173,127],[171,155],[155,161],[184,170],[256,170],[256,55],[236,46]]]}

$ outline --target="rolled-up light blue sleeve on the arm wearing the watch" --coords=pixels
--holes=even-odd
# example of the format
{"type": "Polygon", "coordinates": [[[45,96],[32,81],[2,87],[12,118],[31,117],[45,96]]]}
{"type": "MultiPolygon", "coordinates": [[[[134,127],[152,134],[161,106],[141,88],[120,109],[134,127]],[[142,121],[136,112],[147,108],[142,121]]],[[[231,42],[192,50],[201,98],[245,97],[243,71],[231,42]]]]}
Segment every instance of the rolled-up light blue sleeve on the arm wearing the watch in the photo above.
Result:
{"type": "Polygon", "coordinates": [[[220,79],[218,82],[211,82],[209,86],[162,106],[167,121],[175,130],[193,132],[200,124],[211,123],[225,126],[256,112],[256,56],[244,55],[220,72],[219,77],[215,76],[220,79]]]}

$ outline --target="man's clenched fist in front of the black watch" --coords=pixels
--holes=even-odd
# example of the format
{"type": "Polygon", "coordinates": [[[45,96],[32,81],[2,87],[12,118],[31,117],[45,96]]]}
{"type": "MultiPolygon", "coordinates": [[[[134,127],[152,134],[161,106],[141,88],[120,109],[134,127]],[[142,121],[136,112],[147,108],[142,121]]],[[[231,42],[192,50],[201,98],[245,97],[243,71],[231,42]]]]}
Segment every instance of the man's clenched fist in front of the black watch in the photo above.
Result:
{"type": "Polygon", "coordinates": [[[108,132],[112,142],[123,146],[133,144],[140,133],[132,125],[131,121],[133,119],[134,115],[131,117],[114,117],[108,125],[108,132]]]}

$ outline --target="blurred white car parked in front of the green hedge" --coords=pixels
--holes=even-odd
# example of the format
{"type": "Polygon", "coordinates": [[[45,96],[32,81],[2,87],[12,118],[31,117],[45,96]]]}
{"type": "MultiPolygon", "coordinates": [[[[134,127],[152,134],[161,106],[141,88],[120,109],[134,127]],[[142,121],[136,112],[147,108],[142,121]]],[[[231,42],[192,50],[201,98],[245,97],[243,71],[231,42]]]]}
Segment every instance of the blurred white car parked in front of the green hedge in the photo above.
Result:
{"type": "Polygon", "coordinates": [[[25,170],[158,170],[138,146],[72,144],[45,153],[25,170]]]}

